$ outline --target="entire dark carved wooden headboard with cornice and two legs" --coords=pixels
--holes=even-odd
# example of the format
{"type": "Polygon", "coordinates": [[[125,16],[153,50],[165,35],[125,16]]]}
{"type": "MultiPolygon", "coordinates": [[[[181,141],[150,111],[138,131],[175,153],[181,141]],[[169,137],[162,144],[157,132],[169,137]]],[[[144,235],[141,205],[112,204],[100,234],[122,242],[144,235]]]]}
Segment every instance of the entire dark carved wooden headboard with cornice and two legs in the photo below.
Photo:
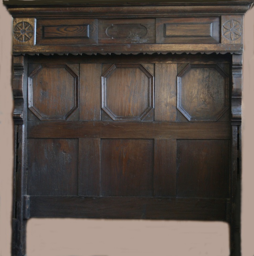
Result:
{"type": "Polygon", "coordinates": [[[33,217],[230,224],[240,255],[252,1],[4,1],[13,16],[12,255],[33,217]]]}

